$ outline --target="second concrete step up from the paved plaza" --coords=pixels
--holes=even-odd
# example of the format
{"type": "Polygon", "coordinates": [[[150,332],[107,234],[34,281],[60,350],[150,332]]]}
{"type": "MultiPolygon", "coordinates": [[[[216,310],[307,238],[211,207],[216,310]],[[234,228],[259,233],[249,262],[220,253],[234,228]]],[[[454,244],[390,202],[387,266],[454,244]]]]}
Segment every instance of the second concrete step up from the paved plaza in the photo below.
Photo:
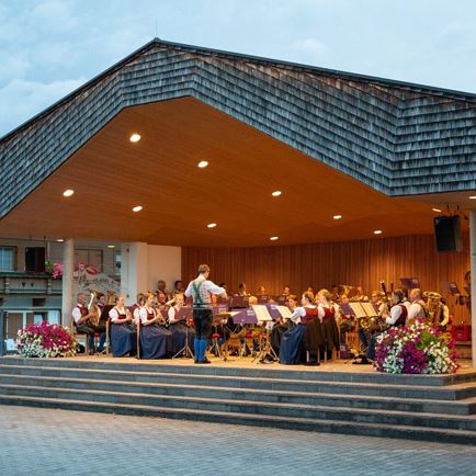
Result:
{"type": "Polygon", "coordinates": [[[321,407],[303,404],[271,404],[237,399],[204,399],[188,396],[168,396],[106,392],[77,388],[45,388],[37,386],[0,385],[1,395],[57,398],[83,401],[103,401],[121,405],[146,405],[160,408],[202,409],[231,413],[253,413],[280,416],[283,418],[308,418],[345,422],[365,422],[392,426],[438,428],[441,430],[474,431],[476,416],[454,416],[444,413],[411,413],[395,410],[349,409],[343,407],[321,407]]]}

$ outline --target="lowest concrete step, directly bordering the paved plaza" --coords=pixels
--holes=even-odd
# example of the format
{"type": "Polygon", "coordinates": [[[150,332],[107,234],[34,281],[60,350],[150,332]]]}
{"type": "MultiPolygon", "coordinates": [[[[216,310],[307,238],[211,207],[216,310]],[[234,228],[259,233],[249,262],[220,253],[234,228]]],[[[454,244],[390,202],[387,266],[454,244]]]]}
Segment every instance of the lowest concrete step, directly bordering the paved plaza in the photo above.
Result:
{"type": "Polygon", "coordinates": [[[379,438],[398,438],[416,441],[434,441],[453,444],[476,444],[476,434],[464,430],[441,430],[384,423],[348,422],[336,420],[316,420],[309,418],[283,418],[276,415],[249,415],[229,411],[207,411],[196,408],[167,408],[138,404],[113,404],[103,401],[88,401],[81,399],[38,398],[29,396],[0,395],[3,405],[36,406],[44,408],[63,408],[81,411],[110,412],[117,415],[135,415],[188,419],[215,423],[248,424],[258,427],[282,428],[287,430],[359,434],[379,438]]]}

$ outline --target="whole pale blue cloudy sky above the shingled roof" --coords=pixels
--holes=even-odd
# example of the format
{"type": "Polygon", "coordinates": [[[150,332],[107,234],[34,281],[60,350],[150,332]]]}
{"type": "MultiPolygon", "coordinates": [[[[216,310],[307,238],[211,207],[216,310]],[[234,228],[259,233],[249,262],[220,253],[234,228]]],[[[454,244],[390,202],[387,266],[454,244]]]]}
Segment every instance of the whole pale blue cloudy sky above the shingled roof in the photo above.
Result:
{"type": "Polygon", "coordinates": [[[0,0],[0,136],[155,36],[476,93],[474,0],[0,0]]]}

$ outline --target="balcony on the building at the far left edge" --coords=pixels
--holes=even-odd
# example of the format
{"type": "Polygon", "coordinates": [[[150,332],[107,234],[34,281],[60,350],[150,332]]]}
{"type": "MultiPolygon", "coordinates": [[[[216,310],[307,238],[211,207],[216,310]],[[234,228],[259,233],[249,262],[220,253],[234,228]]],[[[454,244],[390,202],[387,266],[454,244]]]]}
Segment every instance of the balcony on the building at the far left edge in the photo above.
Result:
{"type": "Polygon", "coordinates": [[[46,273],[0,271],[0,296],[56,296],[61,295],[61,279],[46,273]]]}

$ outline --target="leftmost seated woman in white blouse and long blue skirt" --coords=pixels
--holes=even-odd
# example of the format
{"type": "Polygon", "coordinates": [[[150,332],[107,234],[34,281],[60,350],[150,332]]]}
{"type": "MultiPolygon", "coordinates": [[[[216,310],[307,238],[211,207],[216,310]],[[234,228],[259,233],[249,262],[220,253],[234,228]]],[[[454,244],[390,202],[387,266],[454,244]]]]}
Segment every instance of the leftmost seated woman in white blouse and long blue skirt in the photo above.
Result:
{"type": "Polygon", "coordinates": [[[115,298],[115,306],[109,311],[111,318],[111,348],[114,356],[135,355],[137,350],[137,330],[133,316],[124,306],[124,296],[115,298]]]}

